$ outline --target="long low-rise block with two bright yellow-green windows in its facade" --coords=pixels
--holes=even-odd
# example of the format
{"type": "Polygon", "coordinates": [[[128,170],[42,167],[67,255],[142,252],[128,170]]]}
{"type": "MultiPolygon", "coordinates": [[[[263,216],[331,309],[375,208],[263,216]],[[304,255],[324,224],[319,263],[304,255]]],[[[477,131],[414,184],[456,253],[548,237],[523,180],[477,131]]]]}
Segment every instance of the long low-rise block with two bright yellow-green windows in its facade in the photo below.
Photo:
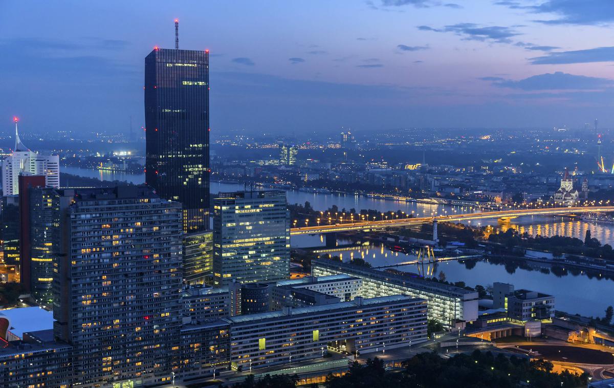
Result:
{"type": "Polygon", "coordinates": [[[426,301],[406,295],[356,297],[222,320],[230,324],[231,367],[243,370],[322,357],[328,347],[361,354],[427,339],[426,301]]]}

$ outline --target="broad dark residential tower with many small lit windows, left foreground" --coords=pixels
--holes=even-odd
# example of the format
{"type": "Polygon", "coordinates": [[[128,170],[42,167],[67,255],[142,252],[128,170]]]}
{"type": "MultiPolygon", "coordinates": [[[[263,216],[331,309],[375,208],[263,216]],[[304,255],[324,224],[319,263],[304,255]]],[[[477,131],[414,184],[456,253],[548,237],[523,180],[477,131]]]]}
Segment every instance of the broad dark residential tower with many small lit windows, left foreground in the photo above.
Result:
{"type": "Polygon", "coordinates": [[[53,331],[74,348],[75,380],[168,381],[181,363],[181,204],[140,186],[59,193],[53,331]]]}

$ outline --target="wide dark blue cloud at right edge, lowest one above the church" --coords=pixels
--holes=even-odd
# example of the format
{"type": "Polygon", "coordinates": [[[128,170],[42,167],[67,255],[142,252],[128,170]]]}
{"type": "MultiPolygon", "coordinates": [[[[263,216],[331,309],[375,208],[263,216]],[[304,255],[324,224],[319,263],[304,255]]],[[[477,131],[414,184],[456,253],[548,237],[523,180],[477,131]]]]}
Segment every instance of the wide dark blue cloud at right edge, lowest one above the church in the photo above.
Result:
{"type": "Polygon", "coordinates": [[[614,86],[614,81],[605,78],[576,76],[561,71],[539,74],[521,80],[505,80],[499,77],[483,77],[493,85],[503,88],[535,90],[602,90],[614,86]]]}

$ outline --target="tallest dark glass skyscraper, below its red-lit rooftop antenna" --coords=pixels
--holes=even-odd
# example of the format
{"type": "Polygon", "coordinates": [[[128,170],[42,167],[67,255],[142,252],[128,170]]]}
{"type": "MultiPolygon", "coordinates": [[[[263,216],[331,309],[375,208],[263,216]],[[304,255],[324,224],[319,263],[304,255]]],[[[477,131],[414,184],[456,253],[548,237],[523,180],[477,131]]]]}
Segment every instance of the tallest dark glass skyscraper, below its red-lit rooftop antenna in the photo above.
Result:
{"type": "Polygon", "coordinates": [[[183,204],[184,230],[209,220],[209,52],[154,48],[145,58],[146,183],[183,204]]]}

